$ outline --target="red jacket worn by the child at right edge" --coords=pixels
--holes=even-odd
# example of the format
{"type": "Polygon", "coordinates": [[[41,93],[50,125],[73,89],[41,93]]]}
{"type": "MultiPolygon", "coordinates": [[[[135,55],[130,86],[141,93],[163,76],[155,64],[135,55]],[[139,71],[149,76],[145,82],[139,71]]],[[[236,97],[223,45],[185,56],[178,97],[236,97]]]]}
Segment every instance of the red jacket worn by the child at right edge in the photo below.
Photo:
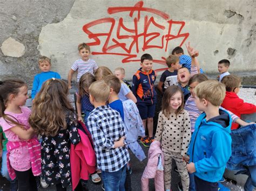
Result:
{"type": "MultiPolygon", "coordinates": [[[[251,103],[245,103],[234,92],[226,91],[226,96],[221,106],[233,114],[241,117],[241,114],[253,114],[256,112],[256,105],[251,103]]],[[[232,123],[231,130],[238,129],[237,123],[232,123]]]]}

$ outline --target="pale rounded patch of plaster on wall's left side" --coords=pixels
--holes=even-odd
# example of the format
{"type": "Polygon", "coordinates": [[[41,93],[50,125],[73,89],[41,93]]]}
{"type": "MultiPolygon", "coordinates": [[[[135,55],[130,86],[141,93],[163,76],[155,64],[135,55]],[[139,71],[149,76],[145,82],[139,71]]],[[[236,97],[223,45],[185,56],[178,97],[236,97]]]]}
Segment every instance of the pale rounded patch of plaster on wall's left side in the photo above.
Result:
{"type": "Polygon", "coordinates": [[[5,56],[21,57],[25,53],[25,46],[9,37],[3,42],[1,50],[5,56]]]}

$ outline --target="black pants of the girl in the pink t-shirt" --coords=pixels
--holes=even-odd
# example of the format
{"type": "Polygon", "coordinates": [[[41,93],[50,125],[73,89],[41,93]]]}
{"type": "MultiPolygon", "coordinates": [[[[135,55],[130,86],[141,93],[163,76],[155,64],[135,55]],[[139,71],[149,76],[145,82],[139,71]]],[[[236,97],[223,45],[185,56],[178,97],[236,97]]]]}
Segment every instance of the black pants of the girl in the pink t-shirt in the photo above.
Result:
{"type": "Polygon", "coordinates": [[[36,178],[31,168],[28,171],[15,171],[18,179],[19,191],[37,191],[36,178]]]}

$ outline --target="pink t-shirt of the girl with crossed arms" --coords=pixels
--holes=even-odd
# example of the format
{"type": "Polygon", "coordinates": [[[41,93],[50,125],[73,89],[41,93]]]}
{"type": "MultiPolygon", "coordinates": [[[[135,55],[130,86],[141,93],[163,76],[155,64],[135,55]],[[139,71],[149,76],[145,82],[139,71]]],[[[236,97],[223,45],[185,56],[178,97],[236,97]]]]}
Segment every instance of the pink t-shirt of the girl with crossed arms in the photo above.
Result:
{"type": "MultiPolygon", "coordinates": [[[[9,117],[12,117],[14,120],[16,119],[16,121],[19,124],[22,124],[26,129],[29,129],[30,128],[29,116],[31,111],[27,107],[21,107],[21,111],[22,111],[21,114],[14,114],[8,111],[4,111],[4,113],[8,114],[9,117]]],[[[23,141],[14,132],[10,130],[12,127],[16,126],[15,124],[8,124],[4,120],[4,118],[1,117],[0,125],[2,126],[8,141],[10,142],[23,141]]],[[[18,147],[18,148],[15,148],[14,150],[11,150],[9,160],[12,168],[14,168],[16,171],[28,171],[28,169],[31,168],[31,160],[30,160],[28,146],[18,147]]]]}

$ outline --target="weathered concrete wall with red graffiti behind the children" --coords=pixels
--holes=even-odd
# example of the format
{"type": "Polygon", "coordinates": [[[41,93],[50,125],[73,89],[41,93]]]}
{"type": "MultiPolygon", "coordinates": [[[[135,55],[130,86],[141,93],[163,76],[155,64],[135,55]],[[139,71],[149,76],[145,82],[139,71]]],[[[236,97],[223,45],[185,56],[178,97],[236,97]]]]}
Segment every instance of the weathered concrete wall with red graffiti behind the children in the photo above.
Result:
{"type": "Polygon", "coordinates": [[[231,60],[231,72],[256,71],[255,8],[253,0],[4,1],[0,79],[17,76],[31,84],[39,55],[49,56],[52,70],[66,79],[82,42],[90,43],[98,65],[122,66],[127,79],[142,54],[152,54],[160,71],[163,57],[188,41],[208,73],[217,72],[220,59],[231,60]]]}

